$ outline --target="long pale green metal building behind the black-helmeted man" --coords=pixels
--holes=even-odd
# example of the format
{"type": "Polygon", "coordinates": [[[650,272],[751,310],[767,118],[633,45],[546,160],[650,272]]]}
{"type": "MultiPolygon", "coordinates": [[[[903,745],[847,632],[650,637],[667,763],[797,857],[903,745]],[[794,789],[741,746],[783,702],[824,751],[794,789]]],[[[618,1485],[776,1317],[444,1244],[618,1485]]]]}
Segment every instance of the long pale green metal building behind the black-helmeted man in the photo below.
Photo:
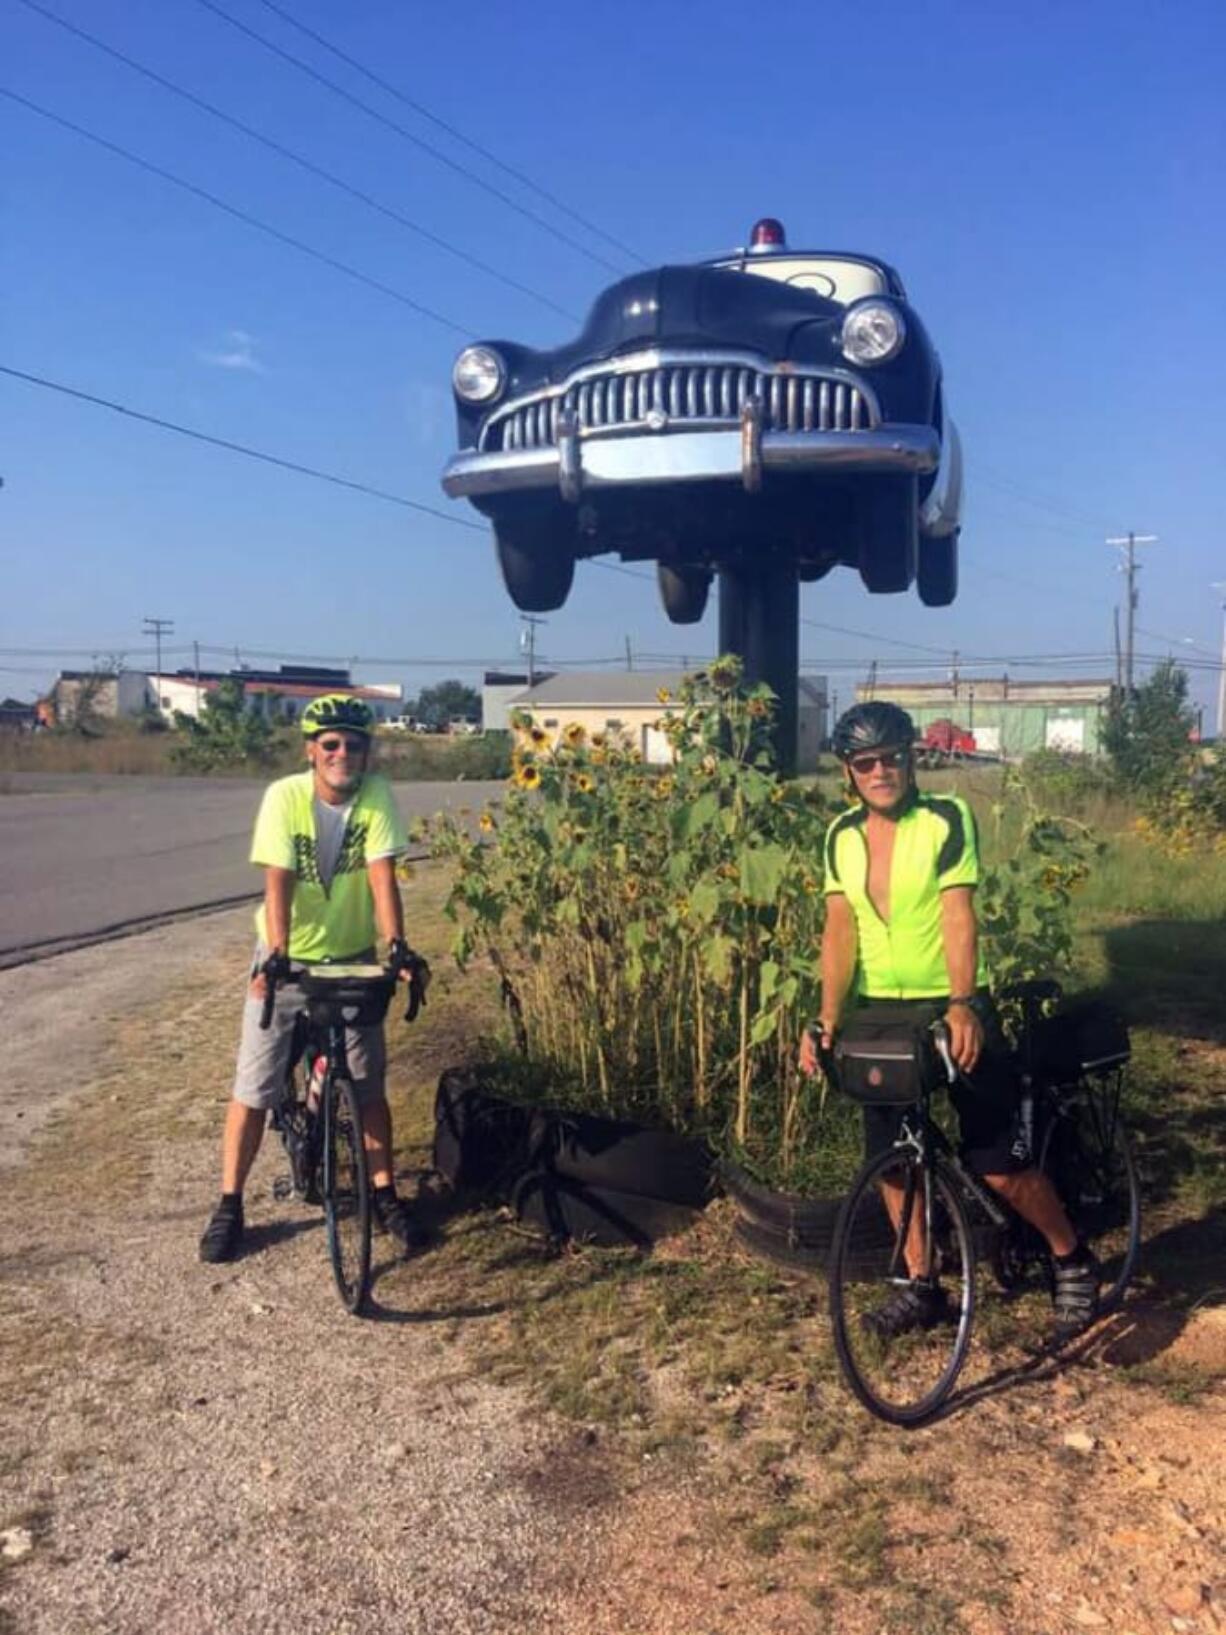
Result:
{"type": "Polygon", "coordinates": [[[1007,675],[948,682],[875,682],[855,695],[901,705],[924,736],[933,721],[953,721],[981,754],[1020,760],[1038,749],[1100,755],[1112,682],[1015,682],[1007,675]]]}

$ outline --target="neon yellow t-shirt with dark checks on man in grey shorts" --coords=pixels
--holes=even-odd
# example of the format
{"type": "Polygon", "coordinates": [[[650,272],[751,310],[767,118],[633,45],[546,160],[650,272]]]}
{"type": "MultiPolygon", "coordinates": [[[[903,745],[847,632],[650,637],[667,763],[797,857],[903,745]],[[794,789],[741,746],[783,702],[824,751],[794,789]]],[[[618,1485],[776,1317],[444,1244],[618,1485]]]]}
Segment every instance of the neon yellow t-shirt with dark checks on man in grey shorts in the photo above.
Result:
{"type": "MultiPolygon", "coordinates": [[[[366,775],[353,796],[332,881],[324,888],[315,842],[314,773],[294,772],[270,783],[252,835],[252,862],[291,868],[298,876],[289,917],[289,958],[351,960],[374,945],[374,899],[366,865],[396,857],[409,844],[386,778],[366,775]]],[[[255,916],[268,942],[263,904],[255,916]]]]}

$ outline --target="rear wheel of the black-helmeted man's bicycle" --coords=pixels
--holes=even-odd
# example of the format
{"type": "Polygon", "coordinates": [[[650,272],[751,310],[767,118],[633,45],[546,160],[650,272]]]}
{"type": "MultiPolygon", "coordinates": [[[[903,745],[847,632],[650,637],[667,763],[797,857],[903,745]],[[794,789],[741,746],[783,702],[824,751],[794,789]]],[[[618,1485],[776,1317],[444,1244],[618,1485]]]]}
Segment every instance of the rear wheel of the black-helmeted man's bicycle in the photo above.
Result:
{"type": "Polygon", "coordinates": [[[1098,1310],[1110,1311],[1123,1300],[1141,1248],[1141,1182],[1120,1115],[1118,1081],[1082,1079],[1048,1128],[1040,1167],[1102,1262],[1098,1310]]]}

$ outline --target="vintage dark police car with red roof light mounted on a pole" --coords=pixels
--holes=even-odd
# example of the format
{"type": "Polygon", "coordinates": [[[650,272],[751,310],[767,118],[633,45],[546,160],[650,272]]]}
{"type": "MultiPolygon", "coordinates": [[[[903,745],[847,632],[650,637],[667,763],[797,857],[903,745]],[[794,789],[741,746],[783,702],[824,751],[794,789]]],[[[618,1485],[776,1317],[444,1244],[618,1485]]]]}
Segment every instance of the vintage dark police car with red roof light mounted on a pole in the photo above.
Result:
{"type": "Polygon", "coordinates": [[[453,370],[443,474],[494,523],[517,607],[566,602],[575,559],[657,561],[669,618],[701,618],[723,566],[839,562],[871,592],[958,589],[961,455],[942,368],[875,255],[749,249],[634,273],[553,352],[492,340],[453,370]]]}

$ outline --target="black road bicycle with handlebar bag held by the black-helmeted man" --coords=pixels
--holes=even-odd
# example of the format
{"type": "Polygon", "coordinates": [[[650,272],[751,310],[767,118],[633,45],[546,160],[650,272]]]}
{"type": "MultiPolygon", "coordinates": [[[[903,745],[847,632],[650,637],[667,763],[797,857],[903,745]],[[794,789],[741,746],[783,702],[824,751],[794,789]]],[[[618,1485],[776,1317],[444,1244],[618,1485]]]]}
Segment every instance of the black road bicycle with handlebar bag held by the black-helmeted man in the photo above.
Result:
{"type": "MultiPolygon", "coordinates": [[[[1123,1298],[1141,1241],[1141,1192],[1120,1113],[1128,1035],[1103,1007],[1041,1015],[1059,992],[1035,981],[1000,996],[1022,1014],[1018,1138],[1102,1262],[1102,1315],[1123,1298]]],[[[935,1091],[958,1076],[943,1024],[914,1035],[914,1045],[896,1030],[853,1058],[830,1058],[824,1053],[834,1082],[901,1115],[894,1146],[863,1164],[835,1223],[835,1351],[865,1408],[914,1426],[938,1413],[966,1362],[981,1254],[1009,1295],[1036,1277],[1051,1287],[1051,1259],[1041,1234],[966,1169],[933,1118],[935,1091]],[[889,1334],[879,1313],[907,1288],[930,1326],[889,1334]]]]}

